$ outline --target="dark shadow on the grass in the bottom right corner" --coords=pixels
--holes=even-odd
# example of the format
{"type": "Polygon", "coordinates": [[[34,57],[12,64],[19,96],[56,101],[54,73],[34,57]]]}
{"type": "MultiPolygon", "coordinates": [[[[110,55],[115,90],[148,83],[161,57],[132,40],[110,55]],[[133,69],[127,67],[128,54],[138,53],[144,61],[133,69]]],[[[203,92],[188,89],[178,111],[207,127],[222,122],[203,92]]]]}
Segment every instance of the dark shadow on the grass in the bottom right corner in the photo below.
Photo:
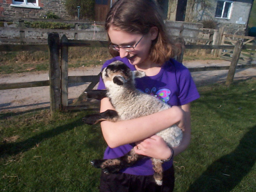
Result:
{"type": "Polygon", "coordinates": [[[256,126],[249,128],[236,149],[213,162],[187,192],[228,192],[238,185],[256,162],[256,126]]]}

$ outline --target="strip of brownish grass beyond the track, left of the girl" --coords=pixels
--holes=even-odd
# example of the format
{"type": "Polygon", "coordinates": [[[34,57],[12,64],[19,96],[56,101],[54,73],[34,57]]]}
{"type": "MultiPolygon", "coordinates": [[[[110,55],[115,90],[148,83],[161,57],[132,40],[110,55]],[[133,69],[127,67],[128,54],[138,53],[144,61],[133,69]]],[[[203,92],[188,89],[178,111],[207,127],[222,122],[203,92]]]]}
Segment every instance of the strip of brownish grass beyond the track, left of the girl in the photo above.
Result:
{"type": "MultiPolygon", "coordinates": [[[[108,48],[70,47],[69,68],[102,65],[111,56],[108,48]]],[[[43,51],[0,52],[0,74],[49,70],[49,55],[43,51]]]]}

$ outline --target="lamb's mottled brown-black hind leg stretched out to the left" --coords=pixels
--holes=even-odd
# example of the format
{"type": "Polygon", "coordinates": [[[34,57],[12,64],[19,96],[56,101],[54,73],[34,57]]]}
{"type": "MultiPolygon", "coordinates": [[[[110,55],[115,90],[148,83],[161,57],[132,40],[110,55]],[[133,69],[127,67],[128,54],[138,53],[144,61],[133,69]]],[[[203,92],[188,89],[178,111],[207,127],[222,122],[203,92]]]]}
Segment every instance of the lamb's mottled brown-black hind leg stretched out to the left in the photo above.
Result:
{"type": "Polygon", "coordinates": [[[123,168],[127,168],[135,164],[138,160],[145,156],[136,154],[134,149],[128,154],[116,159],[93,160],[91,164],[96,168],[101,168],[105,174],[118,172],[123,168]]]}

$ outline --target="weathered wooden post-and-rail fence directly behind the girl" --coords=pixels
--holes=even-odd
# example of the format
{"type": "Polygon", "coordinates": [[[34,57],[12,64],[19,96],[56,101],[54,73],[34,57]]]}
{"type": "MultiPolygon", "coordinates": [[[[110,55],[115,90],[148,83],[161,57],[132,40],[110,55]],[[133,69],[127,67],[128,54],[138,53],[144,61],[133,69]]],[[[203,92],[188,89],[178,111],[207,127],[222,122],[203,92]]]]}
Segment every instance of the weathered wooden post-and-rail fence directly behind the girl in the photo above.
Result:
{"type": "MultiPolygon", "coordinates": [[[[60,39],[58,33],[48,35],[48,45],[0,45],[0,51],[20,51],[20,50],[49,50],[50,52],[50,71],[49,80],[34,81],[24,83],[0,84],[0,90],[15,88],[30,88],[38,86],[50,86],[50,110],[56,112],[59,110],[69,110],[79,108],[84,100],[82,93],[76,100],[75,105],[68,105],[68,84],[72,82],[90,82],[86,90],[93,89],[99,81],[99,74],[96,76],[68,76],[68,47],[108,47],[106,41],[87,41],[87,40],[68,40],[66,36],[60,39]]],[[[239,65],[238,58],[244,49],[254,49],[255,45],[243,45],[242,40],[238,40],[234,45],[185,45],[186,49],[209,49],[209,50],[233,50],[233,56],[230,66],[190,68],[190,72],[210,71],[210,70],[229,70],[226,79],[226,85],[233,81],[236,68],[256,67],[256,64],[239,65]]],[[[182,62],[183,52],[177,57],[182,62]]]]}

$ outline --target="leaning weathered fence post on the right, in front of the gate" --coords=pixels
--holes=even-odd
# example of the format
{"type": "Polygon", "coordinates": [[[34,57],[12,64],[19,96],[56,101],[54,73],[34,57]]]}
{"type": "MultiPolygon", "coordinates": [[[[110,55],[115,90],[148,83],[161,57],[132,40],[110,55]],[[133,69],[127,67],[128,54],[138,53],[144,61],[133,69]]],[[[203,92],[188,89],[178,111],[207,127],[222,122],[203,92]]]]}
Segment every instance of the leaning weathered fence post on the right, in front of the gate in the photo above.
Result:
{"type": "Polygon", "coordinates": [[[227,76],[226,83],[225,83],[226,86],[229,86],[233,82],[234,75],[236,72],[236,66],[238,64],[238,60],[239,60],[241,50],[242,50],[242,44],[243,44],[242,40],[238,40],[234,47],[233,56],[232,56],[232,60],[231,60],[230,67],[228,70],[228,76],[227,76]]]}

